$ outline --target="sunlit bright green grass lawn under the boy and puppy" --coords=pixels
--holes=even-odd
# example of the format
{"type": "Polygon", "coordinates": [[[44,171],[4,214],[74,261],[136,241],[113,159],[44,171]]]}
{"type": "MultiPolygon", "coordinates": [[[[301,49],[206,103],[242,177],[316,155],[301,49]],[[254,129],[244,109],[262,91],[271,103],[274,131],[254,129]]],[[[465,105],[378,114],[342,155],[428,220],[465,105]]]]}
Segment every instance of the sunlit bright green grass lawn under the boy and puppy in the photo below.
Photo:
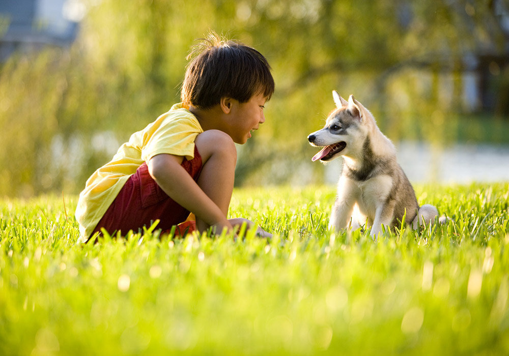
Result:
{"type": "Polygon", "coordinates": [[[239,189],[275,232],[76,245],[75,196],[0,204],[0,354],[509,353],[509,185],[418,186],[453,221],[333,234],[333,187],[239,189]]]}

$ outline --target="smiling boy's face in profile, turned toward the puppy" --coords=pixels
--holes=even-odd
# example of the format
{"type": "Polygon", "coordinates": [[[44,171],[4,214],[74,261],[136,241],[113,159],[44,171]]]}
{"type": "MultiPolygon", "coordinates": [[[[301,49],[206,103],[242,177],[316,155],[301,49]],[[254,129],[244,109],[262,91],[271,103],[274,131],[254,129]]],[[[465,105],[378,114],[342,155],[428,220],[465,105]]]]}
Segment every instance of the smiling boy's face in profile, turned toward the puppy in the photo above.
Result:
{"type": "Polygon", "coordinates": [[[266,98],[263,94],[253,96],[246,103],[232,102],[227,133],[235,143],[244,144],[251,137],[252,130],[258,130],[265,122],[263,106],[266,98]]]}

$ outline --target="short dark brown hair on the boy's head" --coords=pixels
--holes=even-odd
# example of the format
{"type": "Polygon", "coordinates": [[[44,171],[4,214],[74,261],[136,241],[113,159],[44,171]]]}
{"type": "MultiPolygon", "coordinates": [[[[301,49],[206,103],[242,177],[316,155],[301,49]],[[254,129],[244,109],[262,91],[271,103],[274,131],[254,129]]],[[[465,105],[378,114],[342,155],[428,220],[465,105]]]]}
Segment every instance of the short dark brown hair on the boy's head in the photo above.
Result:
{"type": "Polygon", "coordinates": [[[228,97],[245,103],[254,95],[267,100],[274,93],[274,79],[265,57],[238,41],[221,39],[211,32],[187,59],[181,100],[185,105],[209,109],[228,97]]]}

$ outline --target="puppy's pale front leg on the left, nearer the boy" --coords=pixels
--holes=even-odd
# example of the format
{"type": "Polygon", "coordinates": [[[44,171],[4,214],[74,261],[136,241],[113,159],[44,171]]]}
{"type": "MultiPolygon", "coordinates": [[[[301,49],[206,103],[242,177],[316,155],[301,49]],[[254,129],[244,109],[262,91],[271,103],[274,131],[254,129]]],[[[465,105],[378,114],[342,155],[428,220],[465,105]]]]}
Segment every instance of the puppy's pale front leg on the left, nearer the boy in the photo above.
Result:
{"type": "Polygon", "coordinates": [[[342,175],[337,183],[337,197],[332,206],[329,228],[340,231],[348,227],[355,201],[356,187],[351,180],[342,175]]]}

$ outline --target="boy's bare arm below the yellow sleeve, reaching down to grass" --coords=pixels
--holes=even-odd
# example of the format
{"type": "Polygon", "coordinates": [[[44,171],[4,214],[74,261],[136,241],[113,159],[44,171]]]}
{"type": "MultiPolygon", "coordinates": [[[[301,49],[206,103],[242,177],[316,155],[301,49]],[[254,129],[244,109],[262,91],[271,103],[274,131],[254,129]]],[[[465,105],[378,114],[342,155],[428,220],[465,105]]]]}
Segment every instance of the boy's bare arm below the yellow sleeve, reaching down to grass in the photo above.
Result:
{"type": "Polygon", "coordinates": [[[218,232],[224,227],[229,230],[232,225],[189,173],[181,166],[183,157],[160,154],[152,157],[147,163],[149,173],[161,189],[178,204],[209,226],[216,226],[218,232]]]}

